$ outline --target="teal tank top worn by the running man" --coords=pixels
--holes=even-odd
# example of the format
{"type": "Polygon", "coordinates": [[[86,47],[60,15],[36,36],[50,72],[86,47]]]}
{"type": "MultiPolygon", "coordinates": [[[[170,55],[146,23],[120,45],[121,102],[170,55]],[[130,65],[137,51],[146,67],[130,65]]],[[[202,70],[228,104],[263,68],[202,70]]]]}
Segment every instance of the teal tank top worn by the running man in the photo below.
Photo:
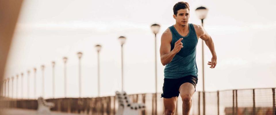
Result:
{"type": "Polygon", "coordinates": [[[183,48],[173,57],[173,60],[165,66],[165,78],[181,78],[188,75],[198,77],[198,67],[196,66],[196,45],[198,38],[193,24],[189,24],[189,33],[186,37],[181,36],[174,26],[169,27],[172,33],[172,42],[170,43],[170,51],[173,50],[175,42],[180,38],[183,43],[183,48]]]}

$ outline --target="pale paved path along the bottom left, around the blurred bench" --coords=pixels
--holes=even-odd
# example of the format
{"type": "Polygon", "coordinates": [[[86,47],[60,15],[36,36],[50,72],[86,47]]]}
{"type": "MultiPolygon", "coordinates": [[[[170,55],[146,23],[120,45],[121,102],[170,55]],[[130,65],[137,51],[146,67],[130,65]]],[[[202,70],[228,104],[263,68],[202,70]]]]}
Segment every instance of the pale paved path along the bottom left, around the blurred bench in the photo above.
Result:
{"type": "MultiPolygon", "coordinates": [[[[0,109],[0,112],[1,112],[1,115],[44,115],[44,114],[37,114],[36,110],[16,109],[16,108],[0,109]]],[[[68,113],[63,113],[63,112],[51,112],[50,115],[80,115],[80,114],[68,114],[68,113]]]]}

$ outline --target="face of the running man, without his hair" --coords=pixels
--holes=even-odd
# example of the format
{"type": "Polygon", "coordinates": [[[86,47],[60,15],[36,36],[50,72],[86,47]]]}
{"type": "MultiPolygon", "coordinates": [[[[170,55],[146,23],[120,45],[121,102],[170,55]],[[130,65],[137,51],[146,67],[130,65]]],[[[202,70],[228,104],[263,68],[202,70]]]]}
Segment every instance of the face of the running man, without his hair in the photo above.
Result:
{"type": "Polygon", "coordinates": [[[175,18],[176,20],[176,23],[182,25],[182,26],[185,26],[188,24],[188,21],[189,21],[189,17],[190,17],[190,14],[189,14],[189,9],[179,9],[177,11],[177,16],[173,15],[173,18],[175,18]]]}

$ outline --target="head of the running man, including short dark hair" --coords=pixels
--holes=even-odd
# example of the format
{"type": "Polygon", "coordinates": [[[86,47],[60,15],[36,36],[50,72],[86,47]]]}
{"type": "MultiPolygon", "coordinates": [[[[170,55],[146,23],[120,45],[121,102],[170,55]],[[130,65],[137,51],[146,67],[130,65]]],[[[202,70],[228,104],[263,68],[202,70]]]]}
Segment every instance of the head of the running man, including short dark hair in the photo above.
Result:
{"type": "Polygon", "coordinates": [[[173,18],[176,23],[185,26],[188,24],[190,17],[190,7],[187,2],[178,2],[173,6],[173,18]]]}

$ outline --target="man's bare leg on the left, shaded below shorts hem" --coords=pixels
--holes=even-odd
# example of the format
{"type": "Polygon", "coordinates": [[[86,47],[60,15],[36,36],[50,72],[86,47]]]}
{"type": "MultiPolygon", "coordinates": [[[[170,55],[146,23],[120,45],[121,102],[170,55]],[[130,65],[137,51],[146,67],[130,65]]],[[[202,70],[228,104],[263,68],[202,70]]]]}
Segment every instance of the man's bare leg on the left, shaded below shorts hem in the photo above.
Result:
{"type": "Polygon", "coordinates": [[[175,114],[177,97],[164,98],[163,101],[165,107],[164,115],[175,114]]]}

